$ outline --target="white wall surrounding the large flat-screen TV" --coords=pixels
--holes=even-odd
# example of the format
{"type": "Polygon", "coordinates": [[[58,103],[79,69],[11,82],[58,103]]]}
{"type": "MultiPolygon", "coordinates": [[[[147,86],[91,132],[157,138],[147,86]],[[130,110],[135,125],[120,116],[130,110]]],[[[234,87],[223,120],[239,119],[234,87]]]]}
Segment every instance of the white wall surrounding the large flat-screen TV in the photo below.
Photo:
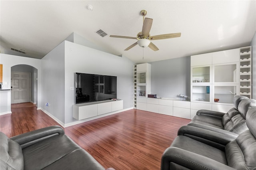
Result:
{"type": "Polygon", "coordinates": [[[124,101],[124,109],[131,108],[133,65],[127,57],[118,57],[103,51],[65,41],[65,123],[77,121],[72,117],[75,103],[75,73],[117,76],[117,98],[124,101]]]}

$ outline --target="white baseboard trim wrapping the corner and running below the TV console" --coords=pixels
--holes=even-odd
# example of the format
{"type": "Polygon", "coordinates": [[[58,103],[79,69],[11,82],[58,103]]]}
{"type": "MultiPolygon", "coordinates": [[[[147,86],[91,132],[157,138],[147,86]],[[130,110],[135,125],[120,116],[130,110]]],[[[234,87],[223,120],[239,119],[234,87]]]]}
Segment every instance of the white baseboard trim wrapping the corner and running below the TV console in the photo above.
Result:
{"type": "Polygon", "coordinates": [[[49,112],[47,112],[46,110],[38,107],[37,110],[41,110],[43,111],[46,115],[50,116],[52,119],[54,119],[54,121],[56,121],[57,123],[59,123],[62,127],[70,127],[70,126],[73,126],[73,125],[78,125],[80,123],[84,123],[84,122],[88,122],[88,121],[92,121],[94,119],[99,119],[99,118],[102,118],[102,117],[106,117],[106,116],[110,116],[110,115],[114,115],[116,113],[120,113],[120,112],[123,112],[123,111],[128,111],[128,110],[131,110],[133,109],[133,107],[130,107],[130,108],[127,108],[127,109],[122,109],[122,110],[119,110],[119,111],[115,111],[115,112],[111,112],[111,113],[106,113],[104,115],[98,115],[98,116],[95,116],[95,117],[90,117],[88,119],[83,119],[81,121],[75,121],[75,122],[71,122],[71,123],[63,123],[62,121],[60,121],[59,119],[57,119],[56,117],[54,117],[52,114],[50,114],[49,112]]]}

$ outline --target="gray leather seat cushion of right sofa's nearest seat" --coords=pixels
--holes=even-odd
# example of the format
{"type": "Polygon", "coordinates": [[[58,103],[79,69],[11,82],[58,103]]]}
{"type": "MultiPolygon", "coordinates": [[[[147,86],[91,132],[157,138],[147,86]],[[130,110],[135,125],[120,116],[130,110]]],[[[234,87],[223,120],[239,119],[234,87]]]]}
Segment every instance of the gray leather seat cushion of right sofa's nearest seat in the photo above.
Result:
{"type": "Polygon", "coordinates": [[[212,160],[227,164],[225,152],[214,148],[208,144],[204,144],[187,136],[177,136],[171,144],[172,147],[181,148],[202,156],[206,156],[212,160]]]}

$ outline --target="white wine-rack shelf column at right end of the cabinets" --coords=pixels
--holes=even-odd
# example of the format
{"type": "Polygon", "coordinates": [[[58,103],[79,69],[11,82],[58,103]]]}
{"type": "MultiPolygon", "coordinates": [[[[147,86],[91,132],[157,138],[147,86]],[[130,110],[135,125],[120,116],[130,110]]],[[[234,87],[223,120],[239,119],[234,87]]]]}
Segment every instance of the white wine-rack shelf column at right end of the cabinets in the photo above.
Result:
{"type": "Polygon", "coordinates": [[[240,95],[252,98],[252,47],[240,48],[240,95]]]}

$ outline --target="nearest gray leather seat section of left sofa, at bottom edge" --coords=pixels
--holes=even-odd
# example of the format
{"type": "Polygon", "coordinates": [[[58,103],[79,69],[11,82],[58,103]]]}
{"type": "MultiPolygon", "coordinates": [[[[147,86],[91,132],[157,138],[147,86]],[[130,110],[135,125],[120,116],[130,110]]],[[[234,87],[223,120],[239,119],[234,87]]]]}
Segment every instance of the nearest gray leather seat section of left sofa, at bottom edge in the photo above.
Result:
{"type": "Polygon", "coordinates": [[[84,149],[77,149],[43,170],[105,170],[105,168],[84,149]]]}

